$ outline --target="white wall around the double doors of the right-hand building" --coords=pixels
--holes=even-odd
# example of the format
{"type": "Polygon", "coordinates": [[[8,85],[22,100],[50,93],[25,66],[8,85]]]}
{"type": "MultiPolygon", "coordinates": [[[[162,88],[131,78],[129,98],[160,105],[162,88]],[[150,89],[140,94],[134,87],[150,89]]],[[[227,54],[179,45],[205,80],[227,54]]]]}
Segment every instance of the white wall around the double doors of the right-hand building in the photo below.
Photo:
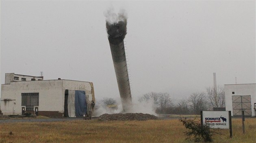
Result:
{"type": "Polygon", "coordinates": [[[232,96],[251,95],[252,116],[255,116],[254,103],[256,103],[256,84],[225,84],[226,111],[231,111],[233,116],[232,96]],[[234,92],[234,94],[232,94],[234,92]]]}

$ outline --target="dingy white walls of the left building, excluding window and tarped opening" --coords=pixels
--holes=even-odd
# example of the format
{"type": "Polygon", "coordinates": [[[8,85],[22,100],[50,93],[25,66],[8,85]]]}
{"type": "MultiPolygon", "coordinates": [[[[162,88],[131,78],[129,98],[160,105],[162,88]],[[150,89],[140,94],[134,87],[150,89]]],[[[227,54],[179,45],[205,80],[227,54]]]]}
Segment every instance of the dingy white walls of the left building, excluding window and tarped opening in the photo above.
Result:
{"type": "Polygon", "coordinates": [[[65,90],[85,90],[92,100],[92,88],[90,82],[74,80],[40,80],[40,81],[19,81],[2,84],[1,110],[4,115],[22,114],[21,93],[39,93],[39,111],[64,112],[65,90]]]}

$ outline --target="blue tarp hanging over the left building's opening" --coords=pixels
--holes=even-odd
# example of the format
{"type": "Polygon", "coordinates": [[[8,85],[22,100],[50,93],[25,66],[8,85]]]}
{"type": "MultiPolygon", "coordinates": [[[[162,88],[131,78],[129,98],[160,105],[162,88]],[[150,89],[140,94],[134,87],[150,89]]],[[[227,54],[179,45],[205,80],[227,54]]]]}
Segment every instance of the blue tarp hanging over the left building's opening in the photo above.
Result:
{"type": "Polygon", "coordinates": [[[85,99],[85,91],[75,91],[75,110],[76,117],[81,117],[87,112],[87,104],[85,99]]]}

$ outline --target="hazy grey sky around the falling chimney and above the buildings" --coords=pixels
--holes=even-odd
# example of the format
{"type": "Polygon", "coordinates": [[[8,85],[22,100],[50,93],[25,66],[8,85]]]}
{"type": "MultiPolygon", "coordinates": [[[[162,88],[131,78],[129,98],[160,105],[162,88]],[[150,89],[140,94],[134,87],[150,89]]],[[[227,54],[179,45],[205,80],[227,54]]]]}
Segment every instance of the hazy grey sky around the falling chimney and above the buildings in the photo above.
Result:
{"type": "Polygon", "coordinates": [[[95,97],[119,98],[104,11],[128,14],[132,96],[181,99],[217,84],[255,83],[255,1],[1,0],[4,73],[93,82],[95,97]]]}

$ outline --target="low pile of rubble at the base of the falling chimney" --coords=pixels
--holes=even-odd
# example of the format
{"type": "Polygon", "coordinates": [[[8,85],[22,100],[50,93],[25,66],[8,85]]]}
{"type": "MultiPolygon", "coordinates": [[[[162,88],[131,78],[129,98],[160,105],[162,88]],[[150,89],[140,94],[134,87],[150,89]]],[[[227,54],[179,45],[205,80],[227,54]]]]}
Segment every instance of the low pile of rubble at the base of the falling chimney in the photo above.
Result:
{"type": "Polygon", "coordinates": [[[102,114],[99,118],[101,121],[110,121],[110,120],[121,120],[121,121],[127,121],[127,120],[138,120],[138,121],[144,121],[144,120],[157,120],[158,117],[150,114],[143,114],[143,113],[126,113],[126,114],[102,114]]]}

